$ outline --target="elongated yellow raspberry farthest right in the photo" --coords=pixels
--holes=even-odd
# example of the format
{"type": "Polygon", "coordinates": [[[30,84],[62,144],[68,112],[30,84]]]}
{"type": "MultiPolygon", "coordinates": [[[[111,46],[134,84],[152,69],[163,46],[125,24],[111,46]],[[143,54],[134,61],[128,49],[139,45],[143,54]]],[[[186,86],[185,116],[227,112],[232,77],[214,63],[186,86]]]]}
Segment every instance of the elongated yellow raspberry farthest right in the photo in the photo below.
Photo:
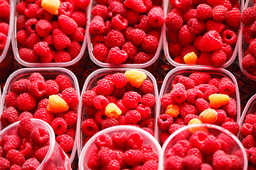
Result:
{"type": "Polygon", "coordinates": [[[220,108],[224,106],[229,101],[229,96],[226,94],[211,94],[209,96],[210,107],[220,108]]]}

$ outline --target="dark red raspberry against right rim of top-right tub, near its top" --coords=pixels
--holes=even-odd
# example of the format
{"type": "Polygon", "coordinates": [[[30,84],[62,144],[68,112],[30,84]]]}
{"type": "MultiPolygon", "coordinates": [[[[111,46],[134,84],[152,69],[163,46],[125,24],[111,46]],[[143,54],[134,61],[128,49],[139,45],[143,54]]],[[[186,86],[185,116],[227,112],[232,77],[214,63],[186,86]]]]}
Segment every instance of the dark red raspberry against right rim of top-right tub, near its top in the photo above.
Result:
{"type": "Polygon", "coordinates": [[[241,12],[238,8],[232,8],[228,11],[225,22],[232,28],[238,28],[240,26],[241,16],[241,12]]]}

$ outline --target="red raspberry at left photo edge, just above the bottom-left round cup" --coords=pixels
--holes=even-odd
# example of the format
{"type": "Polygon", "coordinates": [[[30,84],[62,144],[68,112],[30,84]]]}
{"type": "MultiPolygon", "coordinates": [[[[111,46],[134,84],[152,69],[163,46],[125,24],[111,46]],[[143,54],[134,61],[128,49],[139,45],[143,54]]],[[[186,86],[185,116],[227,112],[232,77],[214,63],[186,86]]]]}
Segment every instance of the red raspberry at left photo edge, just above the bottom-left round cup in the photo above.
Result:
{"type": "Polygon", "coordinates": [[[5,108],[1,114],[1,124],[6,127],[18,121],[18,111],[14,107],[5,108]]]}

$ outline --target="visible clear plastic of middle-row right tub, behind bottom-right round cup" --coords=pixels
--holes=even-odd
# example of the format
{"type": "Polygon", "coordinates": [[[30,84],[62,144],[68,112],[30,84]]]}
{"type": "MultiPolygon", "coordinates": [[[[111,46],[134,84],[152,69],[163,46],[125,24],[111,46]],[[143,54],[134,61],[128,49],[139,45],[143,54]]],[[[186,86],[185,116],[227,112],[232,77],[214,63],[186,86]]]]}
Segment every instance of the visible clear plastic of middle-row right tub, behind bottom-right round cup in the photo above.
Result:
{"type": "MultiPolygon", "coordinates": [[[[210,68],[210,67],[193,67],[193,66],[183,66],[183,67],[176,67],[172,69],[168,74],[166,74],[166,77],[164,78],[163,85],[161,86],[161,91],[159,94],[159,108],[157,109],[157,118],[161,114],[161,98],[164,96],[164,94],[167,94],[171,91],[171,83],[174,81],[174,78],[177,75],[183,75],[188,77],[193,72],[206,72],[209,73],[212,78],[222,78],[222,77],[228,77],[231,81],[233,81],[233,84],[235,84],[235,95],[231,96],[235,99],[237,103],[237,117],[236,122],[239,123],[240,120],[240,95],[239,95],[239,89],[238,89],[238,82],[236,81],[233,74],[228,72],[225,69],[220,68],[210,68]]],[[[158,128],[158,126],[157,126],[158,128]]],[[[160,139],[159,139],[160,141],[160,139]]]]}

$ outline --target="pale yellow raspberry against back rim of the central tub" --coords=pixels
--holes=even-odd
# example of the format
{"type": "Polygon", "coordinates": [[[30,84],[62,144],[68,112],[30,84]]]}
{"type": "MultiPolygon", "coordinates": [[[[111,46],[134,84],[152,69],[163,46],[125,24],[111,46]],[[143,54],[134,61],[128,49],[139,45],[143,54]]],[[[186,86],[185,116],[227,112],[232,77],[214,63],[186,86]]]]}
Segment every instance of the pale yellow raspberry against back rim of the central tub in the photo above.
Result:
{"type": "Polygon", "coordinates": [[[124,74],[127,77],[127,81],[136,88],[139,88],[146,79],[146,74],[137,69],[127,70],[124,74]]]}

